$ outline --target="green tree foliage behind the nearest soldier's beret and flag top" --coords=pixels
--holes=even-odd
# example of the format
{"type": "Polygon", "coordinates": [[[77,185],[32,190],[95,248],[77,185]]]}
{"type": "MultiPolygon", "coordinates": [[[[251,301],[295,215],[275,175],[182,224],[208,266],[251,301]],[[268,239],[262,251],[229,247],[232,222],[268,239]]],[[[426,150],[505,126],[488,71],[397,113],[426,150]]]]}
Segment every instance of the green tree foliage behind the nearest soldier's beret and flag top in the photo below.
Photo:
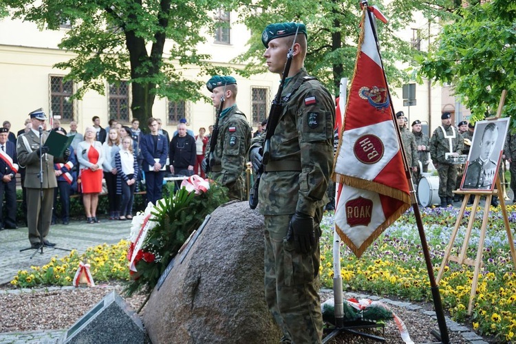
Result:
{"type": "MultiPolygon", "coordinates": [[[[352,76],[361,17],[360,1],[242,0],[240,5],[243,21],[252,32],[248,52],[237,58],[237,62],[247,63],[241,71],[244,76],[264,72],[261,32],[269,23],[281,21],[299,21],[307,25],[308,52],[305,67],[310,74],[325,83],[333,94],[338,94],[338,83],[342,77],[352,76]]],[[[394,64],[411,63],[416,50],[412,49],[410,42],[402,41],[395,32],[412,23],[413,12],[416,11],[431,20],[446,16],[447,11],[453,8],[453,1],[369,1],[369,5],[378,6],[389,18],[387,25],[378,21],[380,52],[389,83],[399,86],[409,80],[410,76],[394,64]]],[[[418,25],[421,23],[416,23],[418,25]]],[[[421,37],[424,38],[424,33],[421,37]]]]}

